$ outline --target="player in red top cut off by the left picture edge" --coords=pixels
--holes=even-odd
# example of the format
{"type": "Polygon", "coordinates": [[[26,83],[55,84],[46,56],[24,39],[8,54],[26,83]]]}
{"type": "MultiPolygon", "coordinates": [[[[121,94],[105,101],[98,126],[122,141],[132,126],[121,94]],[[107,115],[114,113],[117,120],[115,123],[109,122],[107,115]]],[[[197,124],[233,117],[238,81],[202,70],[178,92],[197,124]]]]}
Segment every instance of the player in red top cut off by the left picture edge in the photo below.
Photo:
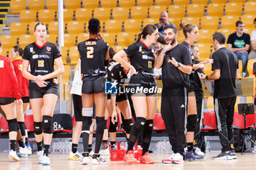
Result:
{"type": "MultiPolygon", "coordinates": [[[[1,53],[0,42],[0,53],[1,53]]],[[[15,113],[15,99],[17,107],[22,107],[22,100],[18,80],[12,66],[10,58],[0,55],[0,107],[4,111],[9,126],[10,152],[9,158],[20,161],[15,152],[16,137],[18,131],[18,122],[15,113]]]]}

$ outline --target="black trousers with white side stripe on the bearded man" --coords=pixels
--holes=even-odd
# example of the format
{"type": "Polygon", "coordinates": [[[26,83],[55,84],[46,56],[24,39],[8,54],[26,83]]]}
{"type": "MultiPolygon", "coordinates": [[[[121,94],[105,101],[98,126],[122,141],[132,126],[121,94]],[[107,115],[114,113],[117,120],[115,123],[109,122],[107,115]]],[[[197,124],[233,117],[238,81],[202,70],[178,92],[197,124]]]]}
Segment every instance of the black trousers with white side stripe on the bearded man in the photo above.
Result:
{"type": "Polygon", "coordinates": [[[187,131],[187,88],[163,88],[161,112],[173,152],[184,155],[187,131]]]}

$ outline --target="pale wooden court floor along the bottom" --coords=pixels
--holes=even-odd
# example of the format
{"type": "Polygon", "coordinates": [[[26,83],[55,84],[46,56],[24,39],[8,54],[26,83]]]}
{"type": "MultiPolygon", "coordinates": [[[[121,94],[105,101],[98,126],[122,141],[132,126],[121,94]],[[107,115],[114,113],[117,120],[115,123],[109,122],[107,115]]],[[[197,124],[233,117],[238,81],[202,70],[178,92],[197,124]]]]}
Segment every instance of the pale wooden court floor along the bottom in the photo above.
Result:
{"type": "Polygon", "coordinates": [[[0,169],[104,169],[104,170],[132,170],[132,169],[145,169],[145,170],[164,170],[164,169],[175,169],[175,170],[249,170],[256,169],[256,154],[253,153],[245,153],[244,155],[237,154],[237,160],[231,161],[212,161],[211,157],[217,155],[217,153],[210,153],[206,156],[206,159],[203,161],[193,161],[193,162],[185,162],[183,165],[176,164],[164,164],[162,163],[163,158],[167,158],[168,155],[160,155],[160,154],[151,154],[151,158],[154,158],[156,161],[153,165],[145,165],[145,164],[132,164],[127,165],[123,162],[109,161],[108,164],[105,165],[80,165],[80,161],[69,161],[67,160],[67,155],[50,155],[50,166],[42,166],[38,164],[37,155],[30,155],[29,158],[21,158],[20,162],[12,161],[12,159],[8,158],[7,154],[0,154],[0,169]]]}

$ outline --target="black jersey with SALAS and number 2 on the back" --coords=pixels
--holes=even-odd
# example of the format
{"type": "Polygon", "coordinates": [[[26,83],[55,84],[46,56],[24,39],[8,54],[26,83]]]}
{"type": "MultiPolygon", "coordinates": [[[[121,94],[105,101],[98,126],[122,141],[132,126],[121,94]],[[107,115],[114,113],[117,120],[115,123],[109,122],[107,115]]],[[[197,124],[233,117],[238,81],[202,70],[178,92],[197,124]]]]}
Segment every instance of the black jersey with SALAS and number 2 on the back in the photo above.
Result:
{"type": "Polygon", "coordinates": [[[79,43],[78,51],[81,59],[81,73],[84,77],[98,77],[106,74],[105,57],[108,43],[98,39],[87,39],[79,43]]]}

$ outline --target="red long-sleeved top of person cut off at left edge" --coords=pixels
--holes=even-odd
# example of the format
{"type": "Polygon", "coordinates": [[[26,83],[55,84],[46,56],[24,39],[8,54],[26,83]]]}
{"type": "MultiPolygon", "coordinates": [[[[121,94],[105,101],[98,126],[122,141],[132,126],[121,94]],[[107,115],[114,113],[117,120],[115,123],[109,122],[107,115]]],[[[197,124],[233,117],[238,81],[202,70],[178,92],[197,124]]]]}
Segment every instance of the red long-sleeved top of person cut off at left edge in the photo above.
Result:
{"type": "Polygon", "coordinates": [[[18,80],[10,58],[0,55],[0,97],[20,99],[18,80]]]}

